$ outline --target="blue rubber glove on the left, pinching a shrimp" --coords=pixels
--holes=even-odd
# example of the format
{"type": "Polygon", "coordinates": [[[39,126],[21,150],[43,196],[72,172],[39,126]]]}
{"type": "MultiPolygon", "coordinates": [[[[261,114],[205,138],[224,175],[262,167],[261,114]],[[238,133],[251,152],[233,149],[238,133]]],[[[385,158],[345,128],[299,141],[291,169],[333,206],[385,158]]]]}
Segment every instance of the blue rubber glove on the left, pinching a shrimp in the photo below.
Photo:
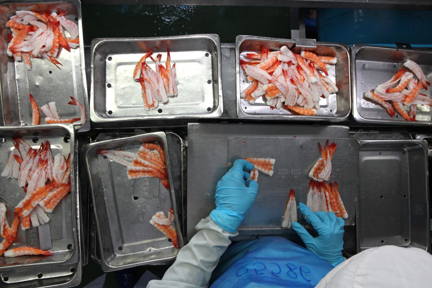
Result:
{"type": "Polygon", "coordinates": [[[234,165],[222,177],[216,186],[216,209],[210,212],[210,217],[225,231],[235,233],[246,213],[251,209],[258,193],[258,183],[246,180],[254,165],[244,159],[235,160],[234,165]]]}

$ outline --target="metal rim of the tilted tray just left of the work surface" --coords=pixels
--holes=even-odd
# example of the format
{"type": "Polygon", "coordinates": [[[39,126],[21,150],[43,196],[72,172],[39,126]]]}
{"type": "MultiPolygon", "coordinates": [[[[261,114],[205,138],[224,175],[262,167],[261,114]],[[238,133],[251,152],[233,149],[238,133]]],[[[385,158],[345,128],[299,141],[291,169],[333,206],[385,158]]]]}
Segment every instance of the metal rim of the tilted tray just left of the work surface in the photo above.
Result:
{"type": "MultiPolygon", "coordinates": [[[[168,155],[168,143],[166,140],[165,132],[162,132],[162,131],[138,134],[135,136],[129,136],[129,137],[123,137],[123,138],[103,140],[103,141],[98,141],[98,142],[92,142],[92,143],[89,143],[89,144],[86,144],[83,146],[82,152],[84,153],[84,156],[85,156],[86,171],[87,171],[87,175],[89,177],[89,182],[90,182],[90,185],[89,185],[90,189],[91,189],[90,194],[91,194],[91,199],[92,199],[92,204],[93,204],[93,213],[95,215],[94,222],[95,222],[95,228],[96,228],[96,232],[97,232],[97,236],[98,236],[97,237],[98,238],[98,244],[99,244],[98,249],[99,249],[99,257],[100,257],[99,261],[101,262],[102,270],[104,272],[111,272],[111,271],[116,271],[119,269],[131,268],[131,267],[140,266],[140,265],[149,265],[149,264],[153,264],[153,263],[166,262],[166,261],[174,260],[177,257],[177,253],[178,253],[179,249],[177,249],[177,253],[174,256],[155,259],[155,260],[149,260],[149,261],[138,261],[136,263],[130,263],[127,265],[113,266],[113,265],[108,264],[106,262],[105,257],[104,257],[104,253],[103,253],[101,231],[100,231],[98,214],[97,214],[96,205],[95,205],[95,191],[93,189],[92,175],[90,174],[90,169],[89,169],[89,161],[88,161],[89,152],[92,149],[94,149],[94,147],[97,147],[97,146],[103,146],[103,145],[112,144],[115,142],[124,142],[124,141],[136,140],[136,139],[141,139],[143,137],[150,137],[150,136],[155,136],[155,137],[158,137],[159,139],[162,139],[162,142],[164,143],[164,147],[165,147],[165,150],[164,150],[165,155],[168,155]]],[[[178,215],[177,205],[176,205],[177,200],[175,199],[175,193],[173,191],[171,191],[171,188],[174,187],[174,185],[172,183],[171,165],[169,162],[169,158],[165,157],[165,161],[166,161],[166,165],[167,165],[166,168],[167,168],[167,172],[168,172],[168,181],[169,181],[169,186],[170,186],[170,190],[169,190],[170,199],[171,199],[171,203],[173,205],[174,214],[178,215]]],[[[175,217],[174,220],[175,220],[175,225],[176,225],[177,237],[178,237],[178,240],[180,241],[181,247],[183,247],[184,241],[183,241],[183,233],[181,230],[180,221],[179,221],[178,217],[175,217]]]]}

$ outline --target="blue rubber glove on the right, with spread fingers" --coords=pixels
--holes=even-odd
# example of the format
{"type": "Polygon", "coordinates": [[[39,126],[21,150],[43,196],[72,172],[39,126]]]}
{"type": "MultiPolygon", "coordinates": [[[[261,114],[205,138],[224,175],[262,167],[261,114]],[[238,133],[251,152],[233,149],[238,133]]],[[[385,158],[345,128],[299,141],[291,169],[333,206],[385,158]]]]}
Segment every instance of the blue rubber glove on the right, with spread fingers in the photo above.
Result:
{"type": "Polygon", "coordinates": [[[308,206],[300,203],[300,211],[306,216],[306,221],[318,232],[318,237],[312,237],[298,222],[292,222],[292,228],[302,238],[309,251],[320,256],[333,266],[345,260],[342,256],[343,225],[342,218],[336,217],[333,212],[312,212],[308,206]]]}

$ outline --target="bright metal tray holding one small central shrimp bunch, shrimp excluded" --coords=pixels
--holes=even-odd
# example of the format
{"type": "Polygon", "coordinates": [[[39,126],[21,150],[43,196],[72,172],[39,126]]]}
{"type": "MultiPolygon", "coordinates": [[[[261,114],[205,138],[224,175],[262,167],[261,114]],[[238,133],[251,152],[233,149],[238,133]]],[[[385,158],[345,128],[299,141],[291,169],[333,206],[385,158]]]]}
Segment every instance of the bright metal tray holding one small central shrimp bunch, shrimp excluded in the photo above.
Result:
{"type": "MultiPolygon", "coordinates": [[[[100,38],[92,41],[91,119],[95,123],[145,119],[219,117],[222,115],[221,56],[216,34],[155,38],[100,38]],[[167,50],[176,63],[178,96],[146,111],[133,69],[146,51],[167,50]]],[[[146,63],[155,69],[148,59],[146,63]]]]}

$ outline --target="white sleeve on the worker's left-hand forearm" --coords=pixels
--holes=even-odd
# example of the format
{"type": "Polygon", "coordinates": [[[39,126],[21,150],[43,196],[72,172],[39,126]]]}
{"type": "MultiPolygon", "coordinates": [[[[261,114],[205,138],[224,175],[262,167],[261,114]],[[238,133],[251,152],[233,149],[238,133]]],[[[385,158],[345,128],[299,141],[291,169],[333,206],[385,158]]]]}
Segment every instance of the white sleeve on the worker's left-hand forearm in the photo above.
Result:
{"type": "Polygon", "coordinates": [[[231,244],[229,238],[238,235],[220,228],[209,217],[195,226],[198,233],[178,252],[176,260],[165,272],[162,280],[152,280],[147,288],[208,287],[210,276],[220,256],[231,244]]]}

